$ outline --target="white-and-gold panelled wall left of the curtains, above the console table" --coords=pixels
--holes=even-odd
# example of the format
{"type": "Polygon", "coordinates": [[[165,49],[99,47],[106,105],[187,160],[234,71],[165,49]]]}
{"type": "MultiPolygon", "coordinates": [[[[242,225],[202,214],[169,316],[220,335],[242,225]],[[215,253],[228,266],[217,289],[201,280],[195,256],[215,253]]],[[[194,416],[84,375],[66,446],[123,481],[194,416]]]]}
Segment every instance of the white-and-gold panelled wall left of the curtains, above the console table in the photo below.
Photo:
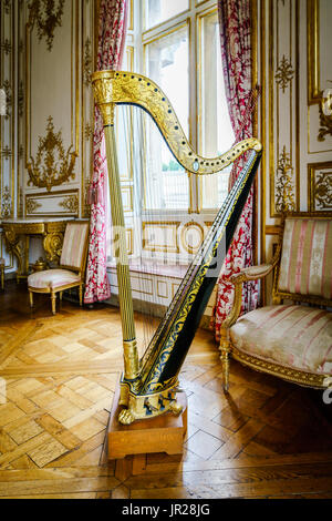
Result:
{"type": "MultiPolygon", "coordinates": [[[[0,221],[89,215],[95,6],[1,0],[0,221]]],[[[0,228],[1,255],[13,269],[0,228]]]]}

